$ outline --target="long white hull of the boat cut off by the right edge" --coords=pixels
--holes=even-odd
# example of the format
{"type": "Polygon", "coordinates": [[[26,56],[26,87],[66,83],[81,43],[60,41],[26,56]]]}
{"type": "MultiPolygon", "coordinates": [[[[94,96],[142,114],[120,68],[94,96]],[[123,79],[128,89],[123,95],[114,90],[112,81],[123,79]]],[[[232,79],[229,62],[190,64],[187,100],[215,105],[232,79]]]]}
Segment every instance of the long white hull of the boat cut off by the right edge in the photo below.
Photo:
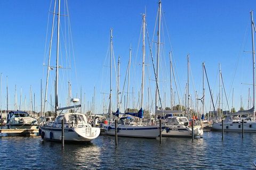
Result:
{"type": "MultiPolygon", "coordinates": [[[[242,131],[242,121],[229,121],[224,122],[224,130],[225,131],[235,131],[239,132],[242,131]]],[[[222,122],[214,123],[212,125],[212,129],[215,131],[222,130],[222,122]]],[[[255,121],[244,121],[244,131],[245,132],[256,132],[256,122],[255,121]]]]}

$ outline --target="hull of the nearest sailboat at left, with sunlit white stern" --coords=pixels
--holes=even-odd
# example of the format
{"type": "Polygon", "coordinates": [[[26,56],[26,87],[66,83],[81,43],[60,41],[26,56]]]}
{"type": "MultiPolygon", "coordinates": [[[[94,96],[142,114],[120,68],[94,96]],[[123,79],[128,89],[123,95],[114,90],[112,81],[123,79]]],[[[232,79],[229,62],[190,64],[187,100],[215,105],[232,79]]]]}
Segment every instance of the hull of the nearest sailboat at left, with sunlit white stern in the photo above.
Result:
{"type": "MultiPolygon", "coordinates": [[[[61,141],[61,128],[40,126],[41,137],[45,140],[61,141]],[[42,134],[44,133],[44,137],[42,134]]],[[[100,128],[65,128],[64,140],[73,142],[86,142],[97,138],[100,128]]]]}

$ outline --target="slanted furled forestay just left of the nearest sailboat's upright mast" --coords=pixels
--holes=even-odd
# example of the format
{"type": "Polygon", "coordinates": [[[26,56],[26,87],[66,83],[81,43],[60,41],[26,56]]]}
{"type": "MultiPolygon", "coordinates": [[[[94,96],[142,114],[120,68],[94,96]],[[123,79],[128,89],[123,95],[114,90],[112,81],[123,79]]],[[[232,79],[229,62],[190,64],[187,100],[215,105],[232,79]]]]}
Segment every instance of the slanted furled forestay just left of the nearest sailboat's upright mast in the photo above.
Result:
{"type": "MultiPolygon", "coordinates": [[[[46,76],[46,87],[45,87],[45,95],[44,95],[44,112],[45,112],[45,104],[47,101],[47,89],[48,89],[48,79],[49,79],[49,71],[51,70],[50,61],[51,61],[51,52],[52,52],[52,36],[53,36],[53,25],[54,25],[54,18],[55,18],[55,8],[56,8],[56,0],[54,2],[54,11],[53,11],[53,19],[52,19],[52,32],[51,32],[51,40],[50,40],[50,49],[49,49],[49,59],[47,65],[47,76],[46,76]]],[[[43,112],[43,114],[44,114],[43,112]]]]}

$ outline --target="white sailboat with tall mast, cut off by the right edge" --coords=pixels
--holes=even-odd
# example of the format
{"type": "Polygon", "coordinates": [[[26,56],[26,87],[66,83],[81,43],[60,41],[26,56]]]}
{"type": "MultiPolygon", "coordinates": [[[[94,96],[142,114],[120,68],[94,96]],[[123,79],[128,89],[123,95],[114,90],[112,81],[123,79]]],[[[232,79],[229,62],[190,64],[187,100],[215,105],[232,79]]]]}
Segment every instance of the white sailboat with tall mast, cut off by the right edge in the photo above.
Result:
{"type": "MultiPolygon", "coordinates": [[[[238,115],[249,115],[249,118],[244,120],[244,131],[256,132],[256,121],[255,121],[255,49],[254,49],[254,31],[255,25],[253,21],[253,12],[251,13],[251,30],[252,30],[252,63],[253,63],[253,107],[247,111],[239,111],[236,113],[228,114],[223,121],[223,129],[225,131],[242,131],[242,118],[238,115]],[[250,118],[253,116],[253,118],[250,118]]],[[[213,130],[222,130],[222,122],[213,123],[213,130]]]]}

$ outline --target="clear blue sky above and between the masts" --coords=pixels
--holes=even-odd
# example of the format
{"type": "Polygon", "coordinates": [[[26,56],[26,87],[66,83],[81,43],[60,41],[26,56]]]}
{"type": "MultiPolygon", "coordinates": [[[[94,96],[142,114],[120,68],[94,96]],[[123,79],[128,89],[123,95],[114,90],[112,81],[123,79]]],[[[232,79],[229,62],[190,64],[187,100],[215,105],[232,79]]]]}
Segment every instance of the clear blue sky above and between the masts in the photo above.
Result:
{"type": "MultiPolygon", "coordinates": [[[[0,72],[3,73],[3,109],[6,108],[6,75],[8,75],[9,107],[13,108],[15,84],[17,84],[18,103],[20,89],[22,88],[22,98],[24,99],[26,95],[27,105],[29,103],[29,88],[31,85],[33,95],[34,93],[36,94],[36,106],[39,111],[40,79],[43,79],[43,88],[45,89],[46,67],[43,66],[43,63],[45,62],[46,36],[49,39],[49,32],[46,35],[46,30],[50,4],[50,0],[0,1],[0,72]]],[[[241,95],[243,96],[243,105],[247,108],[248,88],[252,89],[252,87],[243,85],[241,82],[252,83],[252,55],[243,51],[252,50],[250,10],[256,11],[256,2],[163,0],[162,6],[173,48],[181,92],[184,93],[187,80],[186,55],[189,53],[195,89],[199,91],[199,97],[202,96],[201,65],[204,61],[210,78],[210,86],[214,91],[215,102],[215,98],[218,95],[217,76],[218,64],[220,63],[225,88],[229,96],[229,107],[231,107],[230,89],[234,88],[234,106],[236,110],[240,107],[241,95]],[[234,83],[231,86],[234,74],[234,83]]],[[[109,71],[103,65],[108,65],[106,56],[109,48],[109,30],[113,28],[116,61],[117,57],[121,56],[121,89],[129,58],[129,48],[132,46],[133,72],[131,73],[131,81],[133,85],[131,87],[134,86],[137,97],[141,82],[139,65],[141,62],[141,43],[139,44],[140,48],[137,49],[142,22],[141,14],[145,13],[146,8],[146,20],[151,40],[154,34],[158,1],[68,1],[68,7],[76,64],[75,69],[72,65],[70,70],[73,74],[71,76],[73,96],[76,96],[76,93],[80,94],[79,88],[82,87],[83,93],[85,92],[86,95],[86,102],[89,100],[90,103],[95,86],[95,108],[97,108],[97,112],[102,112],[103,95],[100,92],[109,92],[109,71]]],[[[256,14],[254,15],[256,18],[256,14]]],[[[51,22],[49,24],[51,25],[51,22]]],[[[166,30],[166,28],[164,29],[166,30]]],[[[166,31],[163,36],[166,37],[165,44],[167,47],[165,47],[165,53],[167,54],[170,50],[170,44],[167,43],[166,31]]],[[[162,41],[164,40],[162,39],[162,41]]],[[[55,50],[55,44],[53,44],[53,48],[55,50]]],[[[52,63],[55,62],[54,50],[52,52],[52,63]]],[[[151,69],[149,53],[147,55],[148,59],[146,61],[148,61],[151,69]]],[[[159,76],[159,79],[162,80],[160,86],[163,99],[163,91],[166,92],[166,106],[170,105],[168,104],[170,103],[168,58],[168,56],[165,56],[165,59],[161,59],[162,64],[165,64],[162,65],[163,71],[160,71],[162,73],[159,76]]],[[[152,71],[150,71],[151,73],[152,71]]],[[[54,73],[52,73],[52,78],[53,76],[54,73]]],[[[146,81],[148,82],[148,79],[153,78],[152,75],[146,76],[146,81]]],[[[151,83],[146,83],[145,105],[148,101],[147,88],[149,84],[152,84],[150,91],[154,96],[154,86],[151,81],[151,83]]],[[[191,81],[190,84],[190,92],[194,94],[191,81]]],[[[62,84],[61,86],[67,85],[62,84]]],[[[206,107],[208,108],[207,111],[209,111],[210,96],[206,81],[205,87],[206,107]]],[[[115,84],[113,85],[113,90],[114,88],[115,84]]],[[[63,98],[67,96],[67,91],[65,91],[65,88],[63,89],[64,91],[60,90],[61,95],[63,95],[61,96],[62,99],[60,99],[62,106],[66,105],[66,99],[63,98]]],[[[114,94],[113,96],[115,97],[116,95],[114,94]]],[[[138,98],[136,103],[137,100],[138,98]]],[[[226,99],[223,98],[223,100],[225,100],[223,107],[227,108],[226,99]]]]}

